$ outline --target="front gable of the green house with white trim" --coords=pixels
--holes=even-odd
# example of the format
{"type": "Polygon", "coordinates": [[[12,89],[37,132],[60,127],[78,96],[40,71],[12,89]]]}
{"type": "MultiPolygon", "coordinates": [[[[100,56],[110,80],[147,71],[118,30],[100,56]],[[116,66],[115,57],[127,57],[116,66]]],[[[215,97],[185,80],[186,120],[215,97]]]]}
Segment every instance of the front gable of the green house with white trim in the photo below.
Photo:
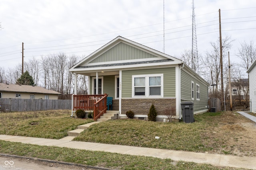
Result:
{"type": "Polygon", "coordinates": [[[71,72],[181,64],[181,60],[124,37],[116,37],[70,68],[71,72]]]}

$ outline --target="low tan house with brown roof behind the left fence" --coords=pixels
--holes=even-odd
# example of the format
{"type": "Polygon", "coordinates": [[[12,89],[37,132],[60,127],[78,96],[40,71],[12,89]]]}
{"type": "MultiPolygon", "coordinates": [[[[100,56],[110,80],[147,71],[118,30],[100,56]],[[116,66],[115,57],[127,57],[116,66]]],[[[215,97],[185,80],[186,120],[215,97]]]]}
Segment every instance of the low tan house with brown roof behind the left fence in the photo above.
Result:
{"type": "Polygon", "coordinates": [[[58,99],[60,93],[39,86],[0,83],[0,98],[58,99]]]}

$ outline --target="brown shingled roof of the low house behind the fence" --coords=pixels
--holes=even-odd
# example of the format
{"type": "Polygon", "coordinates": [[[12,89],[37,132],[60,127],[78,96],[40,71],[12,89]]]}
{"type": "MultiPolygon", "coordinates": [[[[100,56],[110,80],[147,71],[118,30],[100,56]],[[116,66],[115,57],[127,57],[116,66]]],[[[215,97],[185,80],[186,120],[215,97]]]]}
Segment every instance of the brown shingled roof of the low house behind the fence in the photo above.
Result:
{"type": "Polygon", "coordinates": [[[28,86],[19,84],[0,83],[0,92],[23,92],[23,93],[40,93],[40,94],[61,94],[53,90],[47,90],[39,86],[28,86]]]}

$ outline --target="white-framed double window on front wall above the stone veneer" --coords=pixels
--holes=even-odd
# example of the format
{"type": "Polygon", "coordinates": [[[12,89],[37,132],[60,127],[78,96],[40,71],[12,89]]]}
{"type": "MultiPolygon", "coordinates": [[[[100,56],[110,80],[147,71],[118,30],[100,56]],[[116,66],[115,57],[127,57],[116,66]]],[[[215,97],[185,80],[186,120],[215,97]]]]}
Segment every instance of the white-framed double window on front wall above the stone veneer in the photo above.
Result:
{"type": "Polygon", "coordinates": [[[132,97],[163,97],[163,74],[132,76],[132,97]]]}

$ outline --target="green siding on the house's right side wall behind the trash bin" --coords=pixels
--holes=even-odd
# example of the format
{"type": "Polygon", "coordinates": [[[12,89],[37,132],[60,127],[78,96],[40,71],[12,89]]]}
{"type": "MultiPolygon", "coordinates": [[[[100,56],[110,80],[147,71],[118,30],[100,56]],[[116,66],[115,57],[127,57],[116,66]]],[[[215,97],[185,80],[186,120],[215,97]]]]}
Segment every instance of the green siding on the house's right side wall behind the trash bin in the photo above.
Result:
{"type": "Polygon", "coordinates": [[[208,85],[196,76],[181,69],[181,102],[193,102],[194,111],[207,109],[208,106],[208,85]],[[191,82],[194,82],[194,100],[192,100],[191,82]],[[196,84],[200,86],[200,100],[196,100],[196,84]]]}

